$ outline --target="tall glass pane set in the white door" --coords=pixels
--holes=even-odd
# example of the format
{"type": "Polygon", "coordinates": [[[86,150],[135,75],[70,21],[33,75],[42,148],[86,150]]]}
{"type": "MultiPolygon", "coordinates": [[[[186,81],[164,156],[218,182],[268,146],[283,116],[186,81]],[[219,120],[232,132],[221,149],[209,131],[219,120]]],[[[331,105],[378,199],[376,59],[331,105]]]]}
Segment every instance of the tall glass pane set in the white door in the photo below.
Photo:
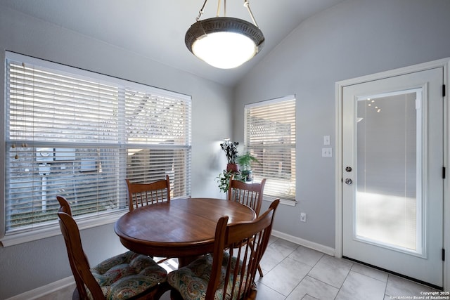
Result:
{"type": "Polygon", "coordinates": [[[417,91],[360,98],[356,119],[356,238],[412,252],[422,236],[417,91]]]}

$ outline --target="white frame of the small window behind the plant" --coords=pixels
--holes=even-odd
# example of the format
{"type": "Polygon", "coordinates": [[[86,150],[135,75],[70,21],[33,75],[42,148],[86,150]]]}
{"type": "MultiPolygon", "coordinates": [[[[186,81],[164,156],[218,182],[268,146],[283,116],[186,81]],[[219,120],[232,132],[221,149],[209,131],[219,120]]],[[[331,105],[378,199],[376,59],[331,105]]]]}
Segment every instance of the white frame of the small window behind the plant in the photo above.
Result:
{"type": "MultiPolygon", "coordinates": [[[[249,145],[249,141],[248,138],[250,136],[249,133],[249,124],[248,124],[248,110],[250,110],[252,107],[264,107],[266,105],[273,105],[276,103],[281,103],[281,102],[285,102],[285,101],[290,101],[290,100],[294,100],[295,103],[297,102],[297,99],[295,98],[295,95],[288,95],[288,96],[284,96],[281,98],[274,98],[274,99],[270,99],[270,100],[264,100],[264,101],[260,101],[257,103],[250,103],[250,104],[246,104],[244,105],[244,145],[245,145],[245,150],[251,151],[253,148],[251,145],[249,145]]],[[[297,124],[297,106],[296,104],[294,105],[294,114],[295,114],[295,124],[297,124]]],[[[296,126],[296,125],[295,125],[296,126]]],[[[294,138],[296,139],[296,133],[293,134],[294,138]]],[[[294,149],[295,149],[295,156],[297,155],[297,143],[294,143],[294,149]]],[[[288,148],[288,147],[287,147],[288,148]]],[[[294,167],[296,162],[296,157],[294,157],[294,167]]],[[[254,176],[258,179],[262,179],[262,178],[258,178],[257,174],[255,173],[255,171],[253,172],[254,176]]],[[[266,187],[267,185],[270,185],[270,177],[264,176],[264,178],[266,178],[266,187]]],[[[296,181],[296,178],[294,177],[294,181],[296,181]]],[[[292,181],[291,181],[292,182],[292,181]]],[[[266,190],[266,188],[264,188],[264,191],[266,190]]],[[[289,206],[295,206],[297,204],[297,200],[296,200],[296,190],[295,190],[295,194],[293,196],[293,198],[291,199],[287,199],[286,197],[283,197],[283,195],[266,195],[266,193],[264,193],[264,197],[263,200],[264,201],[273,201],[277,198],[280,198],[280,203],[281,204],[285,204],[285,205],[289,205],[289,206]]]]}

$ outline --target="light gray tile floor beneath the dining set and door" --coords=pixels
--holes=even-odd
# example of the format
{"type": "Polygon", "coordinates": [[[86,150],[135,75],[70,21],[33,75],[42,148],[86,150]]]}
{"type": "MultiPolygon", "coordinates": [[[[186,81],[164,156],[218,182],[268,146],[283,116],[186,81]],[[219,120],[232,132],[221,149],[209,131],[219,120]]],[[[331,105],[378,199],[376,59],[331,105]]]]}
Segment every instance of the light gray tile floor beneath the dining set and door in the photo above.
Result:
{"type": "MultiPolygon", "coordinates": [[[[257,282],[257,300],[388,300],[413,299],[435,289],[368,268],[346,259],[335,259],[293,242],[272,237],[261,261],[264,277],[257,282]]],[[[171,268],[167,263],[167,268],[171,268]]],[[[71,299],[74,287],[39,300],[71,299]]],[[[169,300],[169,292],[162,300],[169,300]]]]}

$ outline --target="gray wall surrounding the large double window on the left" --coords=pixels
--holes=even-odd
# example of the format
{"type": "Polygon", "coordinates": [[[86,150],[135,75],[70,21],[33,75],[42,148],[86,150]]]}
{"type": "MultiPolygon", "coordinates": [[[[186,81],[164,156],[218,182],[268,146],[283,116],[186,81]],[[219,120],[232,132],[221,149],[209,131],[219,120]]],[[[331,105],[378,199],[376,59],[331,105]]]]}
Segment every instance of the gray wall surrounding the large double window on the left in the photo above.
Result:
{"type": "MultiPolygon", "coordinates": [[[[191,95],[192,195],[223,197],[214,178],[226,164],[219,143],[225,136],[231,136],[230,88],[30,18],[0,4],[1,62],[4,62],[5,50],[191,95]]],[[[0,82],[0,98],[3,101],[3,71],[0,72],[0,82]]],[[[0,113],[4,115],[3,111],[0,113]]],[[[3,117],[1,120],[3,122],[3,117]]],[[[4,151],[3,134],[2,129],[1,151],[4,151]]],[[[0,182],[4,182],[4,162],[0,162],[0,167],[0,182]]],[[[3,193],[0,188],[0,195],[3,193]]],[[[0,217],[0,221],[4,220],[0,217]]],[[[113,224],[82,230],[82,239],[92,265],[125,251],[114,233],[113,224]]],[[[0,299],[70,275],[67,252],[60,235],[6,248],[0,246],[0,299]]]]}

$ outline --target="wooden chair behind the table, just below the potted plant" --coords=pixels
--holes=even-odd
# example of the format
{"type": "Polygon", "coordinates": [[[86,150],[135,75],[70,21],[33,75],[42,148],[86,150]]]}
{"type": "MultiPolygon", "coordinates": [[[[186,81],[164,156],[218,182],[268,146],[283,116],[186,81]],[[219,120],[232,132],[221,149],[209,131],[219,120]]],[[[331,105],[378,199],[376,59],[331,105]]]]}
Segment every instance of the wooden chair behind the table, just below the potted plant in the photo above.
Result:
{"type": "MultiPolygon", "coordinates": [[[[231,176],[228,189],[228,200],[247,205],[255,211],[256,216],[259,216],[265,184],[265,178],[262,179],[261,183],[245,183],[243,181],[234,180],[233,176],[231,176]]],[[[262,268],[259,265],[258,272],[259,276],[264,276],[262,268]]]]}

